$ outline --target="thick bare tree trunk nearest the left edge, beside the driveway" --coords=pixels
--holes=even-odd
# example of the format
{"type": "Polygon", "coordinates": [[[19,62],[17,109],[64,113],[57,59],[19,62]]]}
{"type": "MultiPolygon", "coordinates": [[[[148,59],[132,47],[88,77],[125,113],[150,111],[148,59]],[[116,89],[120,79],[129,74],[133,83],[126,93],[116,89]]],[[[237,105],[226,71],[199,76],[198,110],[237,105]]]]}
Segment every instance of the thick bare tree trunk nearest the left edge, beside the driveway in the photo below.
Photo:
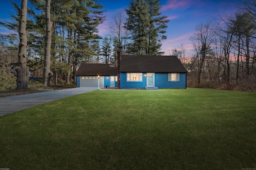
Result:
{"type": "Polygon", "coordinates": [[[18,54],[18,66],[15,67],[17,73],[16,89],[28,89],[28,67],[27,67],[27,34],[26,34],[26,22],[27,22],[27,0],[21,0],[20,8],[20,21],[19,21],[19,54],[18,54]]]}

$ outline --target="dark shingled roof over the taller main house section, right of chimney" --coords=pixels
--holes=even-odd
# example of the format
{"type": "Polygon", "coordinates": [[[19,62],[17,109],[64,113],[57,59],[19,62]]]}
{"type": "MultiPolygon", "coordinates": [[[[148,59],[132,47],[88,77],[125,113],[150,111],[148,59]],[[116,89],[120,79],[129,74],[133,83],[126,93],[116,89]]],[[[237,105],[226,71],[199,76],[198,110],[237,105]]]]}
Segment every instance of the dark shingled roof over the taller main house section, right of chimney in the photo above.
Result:
{"type": "Polygon", "coordinates": [[[176,56],[122,55],[120,72],[187,72],[176,56]]]}

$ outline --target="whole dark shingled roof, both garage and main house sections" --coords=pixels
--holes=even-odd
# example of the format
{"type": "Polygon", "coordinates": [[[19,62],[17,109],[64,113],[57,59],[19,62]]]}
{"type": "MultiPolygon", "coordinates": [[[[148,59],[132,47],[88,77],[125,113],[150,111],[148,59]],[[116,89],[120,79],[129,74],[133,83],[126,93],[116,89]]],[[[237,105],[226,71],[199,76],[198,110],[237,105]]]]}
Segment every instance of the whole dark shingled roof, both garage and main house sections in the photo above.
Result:
{"type": "MultiPolygon", "coordinates": [[[[120,61],[120,72],[177,72],[185,73],[186,68],[176,56],[162,55],[123,55],[120,61]]],[[[117,75],[117,67],[109,64],[84,64],[76,76],[110,76],[117,75]]]]}

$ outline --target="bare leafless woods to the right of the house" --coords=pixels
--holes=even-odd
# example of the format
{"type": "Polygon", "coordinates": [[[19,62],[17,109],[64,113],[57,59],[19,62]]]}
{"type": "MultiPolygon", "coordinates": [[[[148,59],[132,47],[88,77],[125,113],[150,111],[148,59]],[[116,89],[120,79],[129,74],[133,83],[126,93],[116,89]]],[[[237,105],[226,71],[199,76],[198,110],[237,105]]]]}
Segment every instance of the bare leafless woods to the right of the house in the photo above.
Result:
{"type": "Polygon", "coordinates": [[[190,59],[184,43],[170,51],[188,70],[188,87],[256,91],[256,4],[237,5],[229,16],[196,25],[190,59]]]}

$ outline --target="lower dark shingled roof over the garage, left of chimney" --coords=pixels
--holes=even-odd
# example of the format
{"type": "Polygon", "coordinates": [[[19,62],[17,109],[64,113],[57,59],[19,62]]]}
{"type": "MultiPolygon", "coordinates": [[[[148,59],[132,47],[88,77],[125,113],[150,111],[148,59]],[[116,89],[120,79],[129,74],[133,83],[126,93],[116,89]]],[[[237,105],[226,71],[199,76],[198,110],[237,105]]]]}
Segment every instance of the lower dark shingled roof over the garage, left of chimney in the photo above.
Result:
{"type": "Polygon", "coordinates": [[[117,75],[117,67],[109,64],[85,64],[82,63],[76,72],[76,76],[110,76],[117,75]]]}

